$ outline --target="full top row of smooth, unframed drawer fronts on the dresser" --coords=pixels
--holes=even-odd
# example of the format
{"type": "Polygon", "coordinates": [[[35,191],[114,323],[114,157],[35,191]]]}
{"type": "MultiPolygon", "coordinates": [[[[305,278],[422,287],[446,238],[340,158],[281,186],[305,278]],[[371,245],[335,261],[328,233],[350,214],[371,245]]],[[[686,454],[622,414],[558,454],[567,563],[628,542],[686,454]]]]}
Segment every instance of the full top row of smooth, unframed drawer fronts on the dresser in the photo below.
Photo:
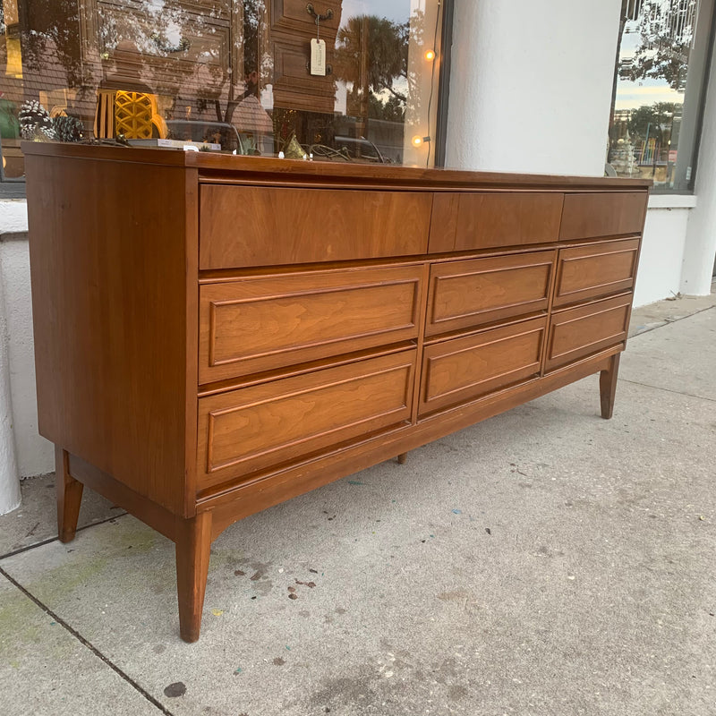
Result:
{"type": "Polygon", "coordinates": [[[205,184],[201,269],[366,260],[639,234],[647,192],[420,192],[205,184]]]}

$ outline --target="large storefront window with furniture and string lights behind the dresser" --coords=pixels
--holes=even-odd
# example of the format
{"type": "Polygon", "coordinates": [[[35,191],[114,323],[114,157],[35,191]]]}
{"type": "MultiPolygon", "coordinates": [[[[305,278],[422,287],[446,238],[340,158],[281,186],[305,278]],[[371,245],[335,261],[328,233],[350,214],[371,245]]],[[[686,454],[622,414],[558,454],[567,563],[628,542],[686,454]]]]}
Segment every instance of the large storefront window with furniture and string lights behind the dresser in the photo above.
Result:
{"type": "Polygon", "coordinates": [[[431,166],[442,5],[0,0],[3,178],[22,138],[431,166]]]}

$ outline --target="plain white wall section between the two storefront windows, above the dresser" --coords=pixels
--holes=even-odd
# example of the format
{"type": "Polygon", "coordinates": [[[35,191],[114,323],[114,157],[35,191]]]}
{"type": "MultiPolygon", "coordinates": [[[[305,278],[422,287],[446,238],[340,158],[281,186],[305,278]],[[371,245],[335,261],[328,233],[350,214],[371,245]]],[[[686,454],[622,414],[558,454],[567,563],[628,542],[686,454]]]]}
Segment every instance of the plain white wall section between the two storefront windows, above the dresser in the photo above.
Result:
{"type": "Polygon", "coordinates": [[[620,0],[456,0],[447,166],[601,176],[620,0]]]}

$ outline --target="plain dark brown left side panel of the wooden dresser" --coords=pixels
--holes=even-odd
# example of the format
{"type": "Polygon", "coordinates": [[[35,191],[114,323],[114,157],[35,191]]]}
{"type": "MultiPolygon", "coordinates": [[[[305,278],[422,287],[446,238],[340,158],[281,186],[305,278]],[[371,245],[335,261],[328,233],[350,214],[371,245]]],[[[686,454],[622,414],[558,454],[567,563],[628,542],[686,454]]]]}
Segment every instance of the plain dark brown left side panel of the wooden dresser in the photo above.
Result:
{"type": "Polygon", "coordinates": [[[27,177],[39,432],[184,514],[185,170],[29,156],[27,177]]]}

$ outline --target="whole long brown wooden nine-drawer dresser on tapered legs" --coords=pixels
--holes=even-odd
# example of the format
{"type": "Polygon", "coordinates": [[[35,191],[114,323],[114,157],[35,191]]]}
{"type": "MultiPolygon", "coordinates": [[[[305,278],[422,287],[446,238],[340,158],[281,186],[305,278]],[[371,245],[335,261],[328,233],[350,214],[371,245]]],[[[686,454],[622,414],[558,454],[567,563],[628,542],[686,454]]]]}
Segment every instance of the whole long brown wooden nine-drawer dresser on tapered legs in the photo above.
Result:
{"type": "Polygon", "coordinates": [[[25,144],[39,431],[176,544],[601,371],[649,183],[25,144]]]}

